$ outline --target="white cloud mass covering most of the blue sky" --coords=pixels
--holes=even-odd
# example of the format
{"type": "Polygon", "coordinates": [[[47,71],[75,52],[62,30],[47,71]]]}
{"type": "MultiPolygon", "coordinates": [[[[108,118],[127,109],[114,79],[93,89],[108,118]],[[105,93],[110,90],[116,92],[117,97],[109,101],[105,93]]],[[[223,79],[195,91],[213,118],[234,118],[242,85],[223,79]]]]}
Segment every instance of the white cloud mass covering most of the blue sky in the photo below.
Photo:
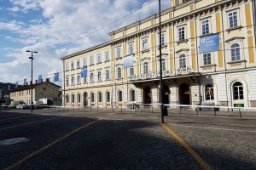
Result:
{"type": "MultiPolygon", "coordinates": [[[[169,7],[169,1],[165,0],[162,3],[169,7]]],[[[90,34],[140,8],[143,5],[141,0],[11,0],[11,2],[26,14],[29,14],[29,10],[40,9],[44,20],[47,21],[43,23],[43,19],[30,20],[26,24],[17,21],[10,21],[8,24],[0,22],[0,30],[9,30],[18,35],[6,36],[7,39],[23,44],[23,48],[7,54],[15,58],[14,61],[0,63],[0,75],[2,75],[0,82],[15,82],[20,81],[21,77],[29,77],[31,64],[26,49],[38,51],[34,59],[35,75],[62,71],[61,57],[109,41],[108,32],[142,20],[157,13],[158,10],[158,3],[155,1],[129,15],[125,20],[119,20],[108,28],[90,34]],[[90,35],[84,37],[88,34],[90,35]],[[83,38],[79,41],[52,50],[80,37],[83,38]],[[47,51],[49,53],[44,53],[47,51]]]]}

